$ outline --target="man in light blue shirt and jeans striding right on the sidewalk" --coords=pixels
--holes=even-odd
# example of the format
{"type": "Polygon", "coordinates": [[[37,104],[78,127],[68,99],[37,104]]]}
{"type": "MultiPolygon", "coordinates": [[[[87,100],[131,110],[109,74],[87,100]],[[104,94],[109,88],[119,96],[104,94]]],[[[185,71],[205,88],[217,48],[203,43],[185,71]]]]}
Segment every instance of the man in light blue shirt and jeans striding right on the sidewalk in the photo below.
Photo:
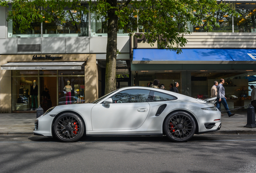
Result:
{"type": "Polygon", "coordinates": [[[226,111],[227,111],[227,115],[229,115],[229,117],[235,115],[235,114],[231,114],[231,112],[229,111],[229,107],[227,105],[227,98],[225,97],[225,89],[223,87],[224,84],[224,79],[220,79],[219,81],[219,85],[217,86],[217,103],[216,103],[216,108],[219,109],[219,111],[221,111],[221,103],[222,105],[225,107],[226,111]]]}

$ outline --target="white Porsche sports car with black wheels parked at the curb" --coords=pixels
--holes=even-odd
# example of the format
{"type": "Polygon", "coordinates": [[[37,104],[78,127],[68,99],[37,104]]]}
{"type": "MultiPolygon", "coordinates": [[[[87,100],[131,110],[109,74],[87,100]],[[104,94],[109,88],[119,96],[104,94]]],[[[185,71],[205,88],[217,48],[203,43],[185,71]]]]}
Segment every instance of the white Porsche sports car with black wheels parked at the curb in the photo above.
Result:
{"type": "Polygon", "coordinates": [[[92,103],[60,105],[35,121],[35,135],[78,141],[83,135],[167,135],[185,142],[221,128],[215,98],[194,99],[149,87],[125,87],[92,103]]]}

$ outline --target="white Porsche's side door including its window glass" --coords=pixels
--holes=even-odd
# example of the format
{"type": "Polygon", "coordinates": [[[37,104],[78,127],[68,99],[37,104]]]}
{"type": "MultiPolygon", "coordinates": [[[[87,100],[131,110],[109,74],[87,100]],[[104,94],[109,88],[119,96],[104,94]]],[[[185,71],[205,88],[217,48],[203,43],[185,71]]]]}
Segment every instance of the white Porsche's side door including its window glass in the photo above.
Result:
{"type": "Polygon", "coordinates": [[[149,90],[129,89],[111,97],[113,103],[97,104],[91,111],[93,130],[128,130],[140,127],[149,114],[149,90]]]}

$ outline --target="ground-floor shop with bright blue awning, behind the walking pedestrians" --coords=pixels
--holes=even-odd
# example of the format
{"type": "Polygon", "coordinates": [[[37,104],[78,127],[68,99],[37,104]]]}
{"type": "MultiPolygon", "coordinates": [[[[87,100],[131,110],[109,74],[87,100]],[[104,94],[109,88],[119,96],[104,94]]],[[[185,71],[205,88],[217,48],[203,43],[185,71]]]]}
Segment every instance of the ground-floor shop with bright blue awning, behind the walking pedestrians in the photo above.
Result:
{"type": "MultiPolygon", "coordinates": [[[[250,87],[256,75],[255,49],[184,48],[181,54],[132,44],[131,72],[134,86],[145,86],[154,79],[169,90],[178,82],[179,93],[206,99],[211,97],[214,81],[225,79],[229,109],[250,103],[250,87]]],[[[138,41],[138,40],[136,40],[138,41]]],[[[143,44],[146,44],[144,46],[143,44]]]]}

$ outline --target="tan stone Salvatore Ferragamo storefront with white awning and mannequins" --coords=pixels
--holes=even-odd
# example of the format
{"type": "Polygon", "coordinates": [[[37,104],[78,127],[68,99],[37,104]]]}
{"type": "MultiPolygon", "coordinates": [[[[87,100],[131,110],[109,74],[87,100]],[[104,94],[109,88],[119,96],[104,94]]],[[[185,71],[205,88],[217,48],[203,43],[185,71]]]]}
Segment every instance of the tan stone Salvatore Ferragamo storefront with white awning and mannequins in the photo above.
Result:
{"type": "Polygon", "coordinates": [[[98,98],[95,54],[1,55],[1,111],[35,112],[98,98]],[[10,111],[11,110],[11,111],[10,111]]]}

